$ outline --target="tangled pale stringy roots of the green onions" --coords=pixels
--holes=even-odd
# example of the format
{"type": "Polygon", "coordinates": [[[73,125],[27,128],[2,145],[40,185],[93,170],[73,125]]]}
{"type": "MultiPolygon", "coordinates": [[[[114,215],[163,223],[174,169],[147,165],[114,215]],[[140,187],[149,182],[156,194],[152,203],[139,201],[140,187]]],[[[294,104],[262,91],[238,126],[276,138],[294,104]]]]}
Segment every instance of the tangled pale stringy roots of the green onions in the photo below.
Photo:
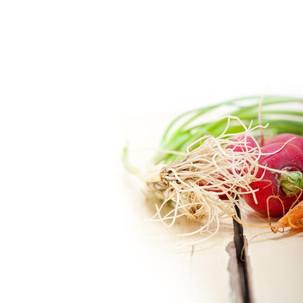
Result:
{"type": "Polygon", "coordinates": [[[249,184],[261,179],[256,178],[261,148],[251,134],[255,128],[246,127],[238,117],[227,116],[227,120],[220,136],[203,136],[193,142],[182,160],[163,166],[157,178],[146,182],[151,191],[162,197],[152,220],[168,227],[181,216],[199,221],[199,229],[184,234],[200,233],[204,237],[198,242],[213,236],[221,219],[237,217],[235,205],[241,207],[240,196],[244,191],[254,194],[249,184]],[[226,134],[231,121],[243,126],[240,139],[239,134],[226,134]],[[255,141],[254,148],[248,145],[247,136],[255,141]],[[194,148],[197,144],[200,145],[194,148]],[[163,214],[165,205],[172,208],[163,214]]]}

